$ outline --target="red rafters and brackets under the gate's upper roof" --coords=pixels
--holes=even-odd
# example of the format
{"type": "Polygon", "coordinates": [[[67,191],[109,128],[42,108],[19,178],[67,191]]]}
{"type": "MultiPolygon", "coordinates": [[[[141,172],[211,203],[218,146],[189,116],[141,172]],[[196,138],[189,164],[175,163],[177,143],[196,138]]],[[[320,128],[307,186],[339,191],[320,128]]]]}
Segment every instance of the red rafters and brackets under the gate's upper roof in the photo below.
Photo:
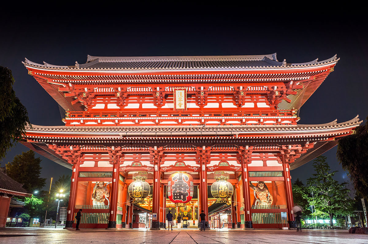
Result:
{"type": "MultiPolygon", "coordinates": [[[[35,70],[31,66],[26,66],[29,74],[39,81],[41,86],[66,110],[66,111],[84,111],[85,107],[90,107],[92,100],[96,96],[112,96],[118,99],[118,105],[124,106],[125,99],[129,95],[126,90],[127,86],[134,84],[163,84],[182,86],[181,84],[193,83],[244,83],[245,88],[249,83],[272,83],[267,86],[267,95],[272,106],[279,109],[299,109],[305,101],[314,93],[316,88],[325,80],[328,73],[333,71],[335,63],[327,66],[293,68],[286,70],[248,70],[242,72],[223,71],[223,72],[189,72],[183,73],[160,73],[153,72],[151,74],[112,74],[96,73],[90,75],[91,72],[81,72],[79,74],[68,74],[67,72],[55,73],[52,70],[35,70]],[[41,82],[42,80],[42,82],[41,82]],[[277,86],[275,83],[282,83],[277,86]],[[92,86],[91,86],[92,85],[92,86]],[[113,92],[96,93],[93,88],[105,89],[111,86],[113,92]],[[81,87],[82,86],[82,87],[81,87]],[[303,87],[304,86],[304,87],[303,87]]],[[[233,86],[234,101],[238,107],[244,104],[244,93],[249,91],[240,89],[241,86],[233,86]],[[243,95],[241,95],[243,93],[243,95]]],[[[209,85],[198,86],[194,95],[196,104],[203,107],[207,103],[207,96],[211,93],[208,91],[209,85]]],[[[137,93],[133,93],[137,94],[137,93]]],[[[138,93],[139,94],[139,93],[138,93]]],[[[165,104],[166,91],[156,85],[150,87],[149,93],[142,93],[153,96],[156,107],[165,104]]],[[[188,93],[190,95],[191,93],[188,93]]]]}

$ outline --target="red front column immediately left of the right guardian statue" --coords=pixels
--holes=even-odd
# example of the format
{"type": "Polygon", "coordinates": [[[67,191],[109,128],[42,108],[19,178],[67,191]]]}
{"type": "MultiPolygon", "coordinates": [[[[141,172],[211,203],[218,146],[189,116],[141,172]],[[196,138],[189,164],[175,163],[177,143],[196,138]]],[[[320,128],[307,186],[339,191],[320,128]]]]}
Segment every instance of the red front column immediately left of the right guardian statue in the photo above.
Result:
{"type": "Polygon", "coordinates": [[[251,213],[251,197],[248,183],[248,164],[241,155],[241,184],[243,184],[243,199],[244,199],[244,227],[252,228],[252,213],[251,213]]]}

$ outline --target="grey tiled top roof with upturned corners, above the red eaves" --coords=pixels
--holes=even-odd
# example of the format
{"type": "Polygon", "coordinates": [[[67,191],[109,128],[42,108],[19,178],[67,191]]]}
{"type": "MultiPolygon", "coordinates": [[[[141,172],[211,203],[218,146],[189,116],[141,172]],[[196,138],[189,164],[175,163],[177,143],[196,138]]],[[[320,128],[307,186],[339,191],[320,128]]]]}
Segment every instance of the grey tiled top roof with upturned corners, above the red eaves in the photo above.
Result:
{"type": "Polygon", "coordinates": [[[337,62],[335,56],[330,59],[318,59],[305,63],[279,62],[276,53],[269,55],[234,56],[152,56],[152,57],[103,57],[87,55],[87,62],[72,66],[51,65],[32,62],[25,59],[25,66],[51,70],[241,70],[274,69],[287,67],[310,67],[337,62]]]}

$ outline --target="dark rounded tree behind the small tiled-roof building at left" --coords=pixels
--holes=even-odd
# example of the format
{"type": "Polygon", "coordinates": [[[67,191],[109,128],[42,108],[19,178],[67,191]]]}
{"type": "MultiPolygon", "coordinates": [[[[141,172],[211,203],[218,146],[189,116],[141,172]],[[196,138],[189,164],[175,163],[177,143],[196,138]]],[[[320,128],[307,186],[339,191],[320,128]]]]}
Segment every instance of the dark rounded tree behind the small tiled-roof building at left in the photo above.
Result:
{"type": "Polygon", "coordinates": [[[24,184],[23,188],[28,191],[42,189],[46,184],[46,178],[40,178],[42,167],[41,159],[35,158],[32,150],[23,152],[14,157],[13,161],[6,164],[7,175],[15,181],[24,184]]]}

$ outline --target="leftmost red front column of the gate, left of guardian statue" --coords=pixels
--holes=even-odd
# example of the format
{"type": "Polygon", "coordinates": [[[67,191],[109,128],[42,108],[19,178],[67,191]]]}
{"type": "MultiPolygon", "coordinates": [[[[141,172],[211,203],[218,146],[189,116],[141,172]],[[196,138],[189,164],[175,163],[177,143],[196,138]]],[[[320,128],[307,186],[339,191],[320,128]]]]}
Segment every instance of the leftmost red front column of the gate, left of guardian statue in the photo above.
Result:
{"type": "Polygon", "coordinates": [[[74,223],[74,208],[75,208],[75,199],[77,198],[77,189],[78,189],[78,174],[79,174],[79,160],[80,156],[76,162],[74,162],[72,166],[71,173],[71,184],[70,184],[70,193],[69,193],[69,202],[68,202],[68,212],[67,212],[67,221],[65,224],[66,228],[72,228],[72,224],[74,223]]]}

